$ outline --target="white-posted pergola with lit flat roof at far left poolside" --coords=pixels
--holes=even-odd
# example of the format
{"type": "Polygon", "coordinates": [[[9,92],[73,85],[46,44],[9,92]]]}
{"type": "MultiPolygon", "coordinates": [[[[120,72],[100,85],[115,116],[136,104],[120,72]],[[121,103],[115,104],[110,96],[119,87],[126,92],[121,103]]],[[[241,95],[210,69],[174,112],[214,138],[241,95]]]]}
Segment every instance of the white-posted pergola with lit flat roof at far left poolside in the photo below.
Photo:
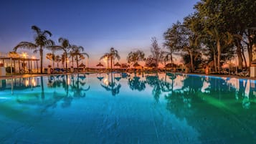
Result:
{"type": "MultiPolygon", "coordinates": [[[[24,64],[25,62],[29,63],[29,74],[31,74],[32,72],[32,64],[31,62],[36,61],[37,62],[37,73],[38,73],[38,61],[39,59],[32,59],[32,58],[23,58],[23,57],[0,57],[0,62],[2,61],[2,63],[4,64],[4,61],[9,60],[11,67],[12,64],[14,64],[15,67],[15,62],[18,61],[19,63],[19,74],[21,74],[21,67],[20,67],[20,63],[22,62],[22,64],[24,64]]],[[[24,65],[22,65],[22,67],[24,67],[24,65]]],[[[12,75],[12,68],[11,68],[11,75],[12,75]]]]}

